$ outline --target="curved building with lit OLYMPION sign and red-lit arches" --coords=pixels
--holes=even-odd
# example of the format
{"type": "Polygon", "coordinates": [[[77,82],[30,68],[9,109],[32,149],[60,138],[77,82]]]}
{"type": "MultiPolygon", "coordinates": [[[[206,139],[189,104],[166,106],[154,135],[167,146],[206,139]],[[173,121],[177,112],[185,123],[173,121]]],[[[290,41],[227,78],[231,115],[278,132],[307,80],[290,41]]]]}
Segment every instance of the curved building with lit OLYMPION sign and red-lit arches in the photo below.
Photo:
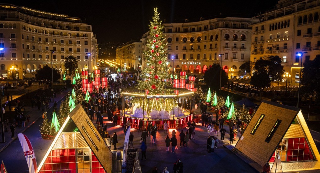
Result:
{"type": "MultiPolygon", "coordinates": [[[[235,17],[164,23],[168,66],[174,67],[175,72],[201,74],[210,65],[222,60],[222,67],[228,76],[237,76],[240,65],[250,61],[251,23],[251,18],[235,17]],[[223,54],[222,59],[219,54],[223,54]],[[231,68],[233,72],[229,71],[231,68]]],[[[147,50],[147,39],[148,32],[142,36],[142,50],[147,50]]]]}

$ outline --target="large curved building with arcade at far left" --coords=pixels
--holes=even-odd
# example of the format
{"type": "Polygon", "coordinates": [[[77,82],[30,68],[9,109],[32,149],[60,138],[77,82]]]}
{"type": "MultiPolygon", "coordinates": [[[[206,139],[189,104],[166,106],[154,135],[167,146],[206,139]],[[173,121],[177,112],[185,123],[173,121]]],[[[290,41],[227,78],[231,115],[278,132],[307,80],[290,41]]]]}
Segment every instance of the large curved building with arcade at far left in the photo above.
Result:
{"type": "Polygon", "coordinates": [[[79,70],[96,65],[97,38],[80,18],[12,4],[0,4],[0,16],[2,77],[23,79],[25,73],[51,67],[51,58],[62,73],[68,55],[77,58],[79,70]]]}

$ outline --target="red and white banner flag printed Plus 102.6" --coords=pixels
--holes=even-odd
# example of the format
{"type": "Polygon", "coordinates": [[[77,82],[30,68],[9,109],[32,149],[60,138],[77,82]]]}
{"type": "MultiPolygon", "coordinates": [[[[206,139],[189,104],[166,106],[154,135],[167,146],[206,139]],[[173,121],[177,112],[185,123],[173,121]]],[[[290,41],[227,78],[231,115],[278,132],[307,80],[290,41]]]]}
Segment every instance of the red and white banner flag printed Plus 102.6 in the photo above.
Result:
{"type": "Polygon", "coordinates": [[[35,155],[35,152],[32,148],[31,142],[29,141],[27,136],[22,133],[18,134],[18,138],[19,138],[21,147],[23,149],[24,156],[26,157],[26,160],[28,163],[29,172],[30,173],[37,173],[38,168],[37,168],[36,155],[35,155]]]}

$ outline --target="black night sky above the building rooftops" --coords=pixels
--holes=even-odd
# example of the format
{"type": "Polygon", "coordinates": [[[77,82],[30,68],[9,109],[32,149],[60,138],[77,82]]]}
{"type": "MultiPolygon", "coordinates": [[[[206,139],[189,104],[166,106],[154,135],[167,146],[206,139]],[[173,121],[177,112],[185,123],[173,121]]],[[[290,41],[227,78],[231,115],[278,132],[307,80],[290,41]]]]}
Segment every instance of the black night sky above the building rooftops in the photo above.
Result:
{"type": "MultiPolygon", "coordinates": [[[[180,23],[184,19],[199,21],[200,17],[211,19],[219,14],[231,17],[253,17],[261,11],[274,8],[277,0],[2,0],[36,10],[80,17],[92,25],[98,43],[140,40],[148,31],[153,8],[158,7],[160,18],[166,23],[180,23]]],[[[222,16],[221,16],[222,17],[222,16]]]]}

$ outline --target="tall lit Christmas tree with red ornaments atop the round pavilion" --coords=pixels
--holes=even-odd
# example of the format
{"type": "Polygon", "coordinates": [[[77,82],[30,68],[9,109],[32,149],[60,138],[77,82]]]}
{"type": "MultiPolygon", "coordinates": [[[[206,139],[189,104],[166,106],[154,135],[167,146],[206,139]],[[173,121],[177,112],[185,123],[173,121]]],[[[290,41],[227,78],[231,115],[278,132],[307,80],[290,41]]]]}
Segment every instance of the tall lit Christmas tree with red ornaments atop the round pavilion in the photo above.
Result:
{"type": "Polygon", "coordinates": [[[170,87],[170,75],[168,73],[167,52],[164,48],[165,35],[163,34],[162,21],[159,20],[157,8],[149,25],[149,39],[147,50],[143,51],[147,67],[141,73],[142,81],[139,81],[138,89],[145,90],[146,95],[169,94],[173,90],[170,87]]]}

